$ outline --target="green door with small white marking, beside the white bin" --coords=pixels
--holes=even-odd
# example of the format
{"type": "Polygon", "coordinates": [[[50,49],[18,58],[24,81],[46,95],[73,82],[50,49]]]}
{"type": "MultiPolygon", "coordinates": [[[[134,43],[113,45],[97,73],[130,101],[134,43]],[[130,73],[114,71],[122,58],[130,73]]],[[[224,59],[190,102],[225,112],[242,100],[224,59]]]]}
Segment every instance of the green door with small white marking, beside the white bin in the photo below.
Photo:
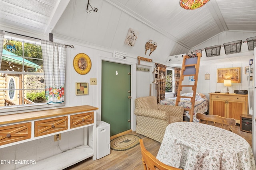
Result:
{"type": "Polygon", "coordinates": [[[101,120],[111,136],[131,129],[130,72],[130,65],[102,61],[101,120]]]}

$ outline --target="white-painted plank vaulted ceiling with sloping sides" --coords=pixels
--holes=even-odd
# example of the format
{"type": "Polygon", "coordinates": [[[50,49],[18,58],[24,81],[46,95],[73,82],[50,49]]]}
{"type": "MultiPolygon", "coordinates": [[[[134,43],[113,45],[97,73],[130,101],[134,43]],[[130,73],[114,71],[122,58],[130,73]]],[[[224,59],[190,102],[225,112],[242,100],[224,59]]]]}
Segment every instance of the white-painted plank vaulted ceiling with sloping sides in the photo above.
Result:
{"type": "Polygon", "coordinates": [[[256,0],[210,0],[184,10],[179,0],[0,0],[0,29],[21,29],[86,42],[130,55],[166,62],[188,53],[223,31],[256,31],[256,0]],[[133,47],[124,44],[129,28],[138,31],[133,47]],[[158,47],[145,55],[145,43],[158,47]]]}

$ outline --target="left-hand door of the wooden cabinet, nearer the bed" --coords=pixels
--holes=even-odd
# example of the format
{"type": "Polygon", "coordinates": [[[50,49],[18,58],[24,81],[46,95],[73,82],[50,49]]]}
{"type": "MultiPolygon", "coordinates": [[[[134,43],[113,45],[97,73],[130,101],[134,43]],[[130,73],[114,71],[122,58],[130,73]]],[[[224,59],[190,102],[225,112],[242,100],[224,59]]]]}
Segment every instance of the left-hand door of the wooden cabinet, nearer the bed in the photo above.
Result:
{"type": "Polygon", "coordinates": [[[226,104],[224,100],[212,100],[211,114],[225,117],[226,104]]]}

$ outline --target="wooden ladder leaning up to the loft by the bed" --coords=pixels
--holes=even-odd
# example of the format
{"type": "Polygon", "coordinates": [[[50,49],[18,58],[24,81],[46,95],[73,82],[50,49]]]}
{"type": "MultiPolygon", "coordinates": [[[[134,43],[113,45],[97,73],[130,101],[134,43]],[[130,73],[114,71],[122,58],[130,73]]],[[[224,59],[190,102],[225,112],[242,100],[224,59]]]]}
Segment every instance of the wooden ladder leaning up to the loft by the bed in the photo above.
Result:
{"type": "Polygon", "coordinates": [[[180,98],[190,98],[191,108],[184,108],[185,111],[189,111],[190,122],[193,121],[194,106],[195,106],[195,99],[196,99],[196,86],[197,86],[197,79],[198,79],[198,72],[199,72],[201,56],[202,56],[202,53],[197,53],[197,56],[193,57],[193,58],[190,58],[190,56],[185,55],[183,57],[183,63],[182,63],[182,68],[181,68],[181,72],[180,72],[180,83],[179,83],[178,92],[177,92],[176,106],[178,106],[178,104],[180,102],[180,98]],[[192,81],[192,82],[194,82],[193,85],[182,84],[184,77],[188,77],[188,76],[194,76],[194,80],[192,81]],[[180,92],[182,91],[183,87],[192,88],[193,96],[192,97],[180,96],[180,92]]]}

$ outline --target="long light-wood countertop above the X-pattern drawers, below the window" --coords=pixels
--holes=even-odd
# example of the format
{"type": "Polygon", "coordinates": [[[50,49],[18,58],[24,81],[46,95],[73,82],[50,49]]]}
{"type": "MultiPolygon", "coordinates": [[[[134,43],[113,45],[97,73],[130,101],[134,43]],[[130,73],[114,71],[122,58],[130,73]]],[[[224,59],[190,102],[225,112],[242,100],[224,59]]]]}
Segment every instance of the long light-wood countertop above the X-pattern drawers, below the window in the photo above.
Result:
{"type": "Polygon", "coordinates": [[[31,111],[26,113],[16,113],[10,115],[1,115],[0,116],[0,125],[8,123],[17,123],[22,121],[30,121],[34,119],[42,119],[46,117],[54,117],[59,115],[67,115],[72,113],[79,113],[83,111],[92,111],[97,110],[98,107],[93,107],[89,105],[84,106],[74,106],[74,107],[63,107],[58,109],[49,109],[42,111],[31,111]]]}

